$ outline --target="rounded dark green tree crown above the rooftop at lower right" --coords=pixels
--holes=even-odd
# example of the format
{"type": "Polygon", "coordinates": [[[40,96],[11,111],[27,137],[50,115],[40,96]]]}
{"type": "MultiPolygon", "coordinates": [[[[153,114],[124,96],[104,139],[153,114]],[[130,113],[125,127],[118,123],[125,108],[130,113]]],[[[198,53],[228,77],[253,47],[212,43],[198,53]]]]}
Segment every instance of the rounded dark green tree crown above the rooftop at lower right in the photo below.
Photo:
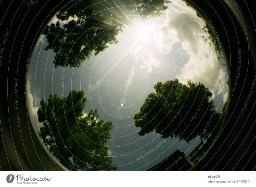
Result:
{"type": "Polygon", "coordinates": [[[162,138],[175,137],[190,140],[200,135],[209,136],[220,114],[216,112],[212,93],[203,84],[188,81],[180,83],[177,79],[157,82],[156,93],[150,93],[140,112],[134,116],[139,135],[149,132],[161,134],[162,138]]]}

